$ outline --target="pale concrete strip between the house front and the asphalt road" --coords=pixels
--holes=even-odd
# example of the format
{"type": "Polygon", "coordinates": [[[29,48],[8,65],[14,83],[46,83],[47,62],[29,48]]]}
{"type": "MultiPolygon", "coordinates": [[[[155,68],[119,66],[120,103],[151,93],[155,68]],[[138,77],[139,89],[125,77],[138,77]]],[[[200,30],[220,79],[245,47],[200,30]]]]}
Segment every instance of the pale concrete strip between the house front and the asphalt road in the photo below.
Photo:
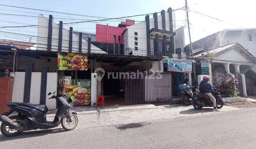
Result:
{"type": "MultiPolygon", "coordinates": [[[[107,106],[107,107],[74,107],[72,110],[78,113],[79,127],[98,127],[110,125],[124,125],[128,123],[152,122],[184,116],[199,116],[205,114],[215,114],[212,108],[202,108],[195,110],[191,106],[177,105],[127,105],[127,106],[107,106]]],[[[239,110],[236,107],[223,106],[220,112],[239,110]]],[[[56,111],[51,111],[47,115],[47,120],[52,121],[56,111]]]]}

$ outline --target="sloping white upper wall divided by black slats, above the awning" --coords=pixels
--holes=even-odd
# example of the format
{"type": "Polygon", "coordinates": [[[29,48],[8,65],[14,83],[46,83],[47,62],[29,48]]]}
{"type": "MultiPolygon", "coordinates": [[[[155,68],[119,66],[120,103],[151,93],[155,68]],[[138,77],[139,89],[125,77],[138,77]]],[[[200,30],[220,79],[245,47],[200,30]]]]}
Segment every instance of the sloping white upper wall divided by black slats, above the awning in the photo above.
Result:
{"type": "MultiPolygon", "coordinates": [[[[49,20],[43,15],[38,15],[38,28],[37,28],[37,50],[47,50],[47,38],[48,38],[48,22],[49,20]]],[[[54,21],[54,18],[53,18],[54,21]]],[[[59,22],[58,22],[59,23],[59,22]]],[[[78,52],[79,47],[79,36],[72,34],[72,51],[78,52]]],[[[58,51],[59,42],[59,25],[53,22],[52,30],[52,51],[58,51]]],[[[62,51],[68,51],[69,47],[69,30],[62,30],[62,51]]],[[[88,42],[82,39],[82,53],[88,52],[88,42]]],[[[97,48],[95,45],[91,44],[91,53],[104,53],[105,51],[97,48]]]]}

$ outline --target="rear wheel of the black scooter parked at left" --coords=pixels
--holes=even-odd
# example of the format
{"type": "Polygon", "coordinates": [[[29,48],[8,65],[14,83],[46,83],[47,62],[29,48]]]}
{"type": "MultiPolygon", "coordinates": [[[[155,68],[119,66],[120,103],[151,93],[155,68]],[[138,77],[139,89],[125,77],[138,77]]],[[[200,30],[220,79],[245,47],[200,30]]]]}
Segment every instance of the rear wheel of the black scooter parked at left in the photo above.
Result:
{"type": "MultiPolygon", "coordinates": [[[[16,115],[10,116],[9,118],[14,121],[23,120],[21,117],[18,117],[16,115]]],[[[20,130],[10,129],[9,126],[5,125],[4,123],[1,124],[0,131],[5,137],[14,137],[14,136],[17,136],[18,134],[22,133],[22,131],[20,131],[20,130]]]]}

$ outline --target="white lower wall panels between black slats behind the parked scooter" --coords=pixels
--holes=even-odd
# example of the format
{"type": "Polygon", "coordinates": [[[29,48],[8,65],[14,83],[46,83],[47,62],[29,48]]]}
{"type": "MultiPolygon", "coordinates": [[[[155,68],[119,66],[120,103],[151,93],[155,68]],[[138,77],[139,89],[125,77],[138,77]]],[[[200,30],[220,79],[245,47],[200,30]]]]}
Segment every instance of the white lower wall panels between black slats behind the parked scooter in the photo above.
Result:
{"type": "MultiPolygon", "coordinates": [[[[12,101],[23,102],[25,84],[25,72],[15,72],[14,78],[14,91],[12,101]]],[[[30,89],[30,103],[40,103],[40,90],[41,90],[41,72],[32,72],[31,74],[31,89],[30,89]]],[[[48,109],[56,108],[55,99],[48,99],[49,92],[57,92],[57,73],[47,73],[47,86],[46,86],[46,106],[48,109]]]]}

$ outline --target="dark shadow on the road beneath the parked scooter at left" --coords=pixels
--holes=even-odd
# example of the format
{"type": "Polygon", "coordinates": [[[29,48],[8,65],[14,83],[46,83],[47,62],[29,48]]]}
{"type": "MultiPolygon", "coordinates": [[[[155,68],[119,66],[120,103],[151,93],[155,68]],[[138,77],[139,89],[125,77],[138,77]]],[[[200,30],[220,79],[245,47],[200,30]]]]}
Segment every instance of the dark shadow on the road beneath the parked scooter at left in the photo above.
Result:
{"type": "Polygon", "coordinates": [[[4,135],[0,134],[0,142],[4,142],[7,140],[16,140],[16,139],[23,139],[23,138],[33,138],[44,136],[47,134],[54,134],[54,133],[62,133],[66,132],[63,128],[55,128],[55,129],[45,129],[45,130],[38,130],[38,131],[25,131],[15,137],[5,137],[4,135]]]}

